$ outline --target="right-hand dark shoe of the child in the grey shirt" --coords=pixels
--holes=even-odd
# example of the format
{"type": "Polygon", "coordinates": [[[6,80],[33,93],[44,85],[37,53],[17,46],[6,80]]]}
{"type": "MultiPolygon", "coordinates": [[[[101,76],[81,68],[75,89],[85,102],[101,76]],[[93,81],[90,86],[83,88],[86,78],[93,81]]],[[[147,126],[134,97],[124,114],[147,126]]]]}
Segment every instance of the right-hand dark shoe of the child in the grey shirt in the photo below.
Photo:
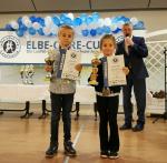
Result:
{"type": "Polygon", "coordinates": [[[63,142],[63,146],[65,146],[65,154],[69,156],[76,156],[77,152],[73,149],[71,141],[63,142]]]}

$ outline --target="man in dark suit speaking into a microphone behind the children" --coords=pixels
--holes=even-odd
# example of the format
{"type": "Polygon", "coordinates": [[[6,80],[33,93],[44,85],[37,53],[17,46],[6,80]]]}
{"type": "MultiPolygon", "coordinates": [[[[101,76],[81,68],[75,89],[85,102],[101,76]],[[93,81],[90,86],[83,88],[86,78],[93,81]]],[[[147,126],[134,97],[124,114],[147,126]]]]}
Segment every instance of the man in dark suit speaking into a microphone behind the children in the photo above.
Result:
{"type": "Polygon", "coordinates": [[[148,49],[145,39],[132,35],[132,26],[125,23],[122,26],[124,41],[118,43],[117,54],[124,54],[125,64],[130,72],[127,75],[127,85],[122,86],[125,123],[120,130],[132,129],[134,132],[144,130],[145,109],[146,109],[146,78],[148,72],[144,63],[144,58],[148,55],[148,49]],[[132,103],[131,89],[137,104],[137,124],[132,128],[132,103]]]}

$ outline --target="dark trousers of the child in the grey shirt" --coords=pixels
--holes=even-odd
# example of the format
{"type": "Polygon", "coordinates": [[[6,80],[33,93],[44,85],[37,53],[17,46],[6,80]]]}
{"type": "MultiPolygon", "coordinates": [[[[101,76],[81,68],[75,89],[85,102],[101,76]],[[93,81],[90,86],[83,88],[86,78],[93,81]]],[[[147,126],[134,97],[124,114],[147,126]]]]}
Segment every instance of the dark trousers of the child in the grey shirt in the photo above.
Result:
{"type": "Polygon", "coordinates": [[[55,94],[50,93],[51,99],[51,137],[52,144],[58,143],[60,112],[62,108],[63,121],[63,139],[68,141],[71,139],[71,108],[73,103],[72,94],[55,94]]]}

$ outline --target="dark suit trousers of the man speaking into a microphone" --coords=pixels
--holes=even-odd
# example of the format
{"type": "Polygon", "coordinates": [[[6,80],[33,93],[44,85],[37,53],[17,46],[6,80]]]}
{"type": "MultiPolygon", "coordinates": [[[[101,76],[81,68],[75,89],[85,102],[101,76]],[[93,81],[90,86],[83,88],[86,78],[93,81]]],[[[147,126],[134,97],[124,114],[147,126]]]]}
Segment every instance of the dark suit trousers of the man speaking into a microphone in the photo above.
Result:
{"type": "Polygon", "coordinates": [[[134,79],[132,75],[127,77],[127,85],[122,88],[125,123],[131,124],[132,120],[132,104],[131,104],[132,86],[137,104],[137,115],[138,115],[137,123],[145,124],[146,79],[134,79]]]}

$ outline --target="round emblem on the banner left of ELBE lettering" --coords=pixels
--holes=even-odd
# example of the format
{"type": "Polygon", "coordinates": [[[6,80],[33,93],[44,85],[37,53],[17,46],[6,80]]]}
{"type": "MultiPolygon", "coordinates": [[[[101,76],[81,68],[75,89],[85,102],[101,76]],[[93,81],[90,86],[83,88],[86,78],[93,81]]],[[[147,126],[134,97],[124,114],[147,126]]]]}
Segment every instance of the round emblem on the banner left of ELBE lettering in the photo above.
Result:
{"type": "Polygon", "coordinates": [[[20,42],[13,35],[4,37],[0,40],[0,54],[4,58],[16,58],[20,52],[20,42]]]}

